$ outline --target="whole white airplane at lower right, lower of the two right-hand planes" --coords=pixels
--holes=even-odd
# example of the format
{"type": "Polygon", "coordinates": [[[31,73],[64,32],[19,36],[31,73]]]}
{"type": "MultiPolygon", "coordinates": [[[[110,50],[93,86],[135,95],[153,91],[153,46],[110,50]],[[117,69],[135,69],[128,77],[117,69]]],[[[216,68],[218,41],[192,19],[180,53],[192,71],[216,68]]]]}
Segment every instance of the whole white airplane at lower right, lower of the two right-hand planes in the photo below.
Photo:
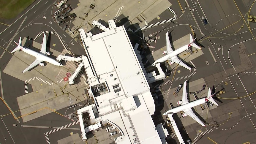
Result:
{"type": "Polygon", "coordinates": [[[197,105],[204,104],[208,101],[210,101],[213,104],[218,106],[217,102],[215,102],[215,100],[212,98],[212,96],[214,96],[214,94],[211,94],[211,88],[209,88],[208,96],[206,98],[201,98],[201,99],[195,100],[193,102],[188,102],[186,83],[187,83],[187,80],[184,82],[182,100],[177,102],[178,105],[179,104],[181,104],[181,105],[178,107],[175,107],[171,110],[168,110],[163,115],[168,115],[168,113],[178,113],[178,112],[183,111],[183,112],[185,112],[185,113],[183,113],[183,117],[189,115],[191,118],[193,118],[195,121],[197,121],[200,125],[205,126],[205,124],[203,124],[203,122],[195,115],[195,113],[192,111],[191,108],[195,107],[197,105]]]}

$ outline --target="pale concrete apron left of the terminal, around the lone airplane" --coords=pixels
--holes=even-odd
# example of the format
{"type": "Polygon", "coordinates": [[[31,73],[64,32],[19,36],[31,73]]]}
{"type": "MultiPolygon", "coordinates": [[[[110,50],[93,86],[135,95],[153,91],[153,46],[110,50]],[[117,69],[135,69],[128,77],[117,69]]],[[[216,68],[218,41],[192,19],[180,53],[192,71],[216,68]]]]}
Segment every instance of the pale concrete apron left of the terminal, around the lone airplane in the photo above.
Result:
{"type": "MultiPolygon", "coordinates": [[[[23,39],[23,45],[25,45],[26,40],[26,38],[23,39]]],[[[39,51],[41,44],[33,42],[30,48],[39,51]]],[[[49,50],[49,48],[47,48],[47,50],[49,50]]],[[[53,49],[50,49],[50,52],[52,53],[50,56],[52,58],[56,58],[61,54],[53,49]]],[[[68,61],[63,67],[46,64],[44,67],[37,66],[29,72],[22,73],[23,69],[28,67],[34,59],[35,57],[30,56],[29,54],[17,51],[3,70],[4,73],[16,77],[24,81],[25,84],[31,84],[32,86],[31,93],[17,97],[21,113],[19,118],[22,118],[23,122],[55,112],[72,103],[75,104],[77,103],[77,99],[80,101],[87,99],[87,97],[82,96],[82,94],[85,93],[84,89],[89,88],[83,78],[76,79],[75,82],[77,83],[72,86],[69,86],[68,82],[63,80],[64,77],[67,77],[66,73],[71,75],[72,72],[75,71],[75,62],[68,61]],[[67,91],[71,94],[67,94],[67,91]]],[[[26,89],[28,88],[26,88],[25,85],[25,91],[26,89]]]]}

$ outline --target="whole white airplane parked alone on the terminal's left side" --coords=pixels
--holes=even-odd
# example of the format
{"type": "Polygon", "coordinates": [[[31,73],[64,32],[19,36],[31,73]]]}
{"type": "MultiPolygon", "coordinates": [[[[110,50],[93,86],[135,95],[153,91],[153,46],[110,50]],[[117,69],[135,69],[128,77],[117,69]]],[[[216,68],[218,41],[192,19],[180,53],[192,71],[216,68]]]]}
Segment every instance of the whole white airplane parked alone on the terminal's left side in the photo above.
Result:
{"type": "Polygon", "coordinates": [[[50,53],[46,51],[46,35],[45,35],[45,33],[43,33],[43,34],[44,34],[44,38],[43,38],[42,48],[41,48],[39,53],[34,51],[34,50],[30,50],[29,48],[23,47],[21,45],[21,37],[19,39],[19,43],[14,41],[15,44],[17,45],[17,47],[14,50],[12,50],[11,53],[13,53],[13,52],[15,52],[17,50],[23,50],[25,53],[27,53],[27,54],[29,54],[31,56],[36,57],[36,60],[32,64],[30,64],[29,67],[27,67],[23,71],[23,73],[28,71],[28,70],[30,70],[30,69],[32,69],[33,67],[37,66],[38,64],[43,67],[45,65],[43,63],[44,61],[46,61],[48,63],[51,63],[53,65],[56,65],[56,66],[60,66],[60,67],[63,66],[61,63],[58,63],[57,61],[55,61],[55,59],[50,58],[50,57],[47,56],[47,55],[50,55],[50,53]]]}

